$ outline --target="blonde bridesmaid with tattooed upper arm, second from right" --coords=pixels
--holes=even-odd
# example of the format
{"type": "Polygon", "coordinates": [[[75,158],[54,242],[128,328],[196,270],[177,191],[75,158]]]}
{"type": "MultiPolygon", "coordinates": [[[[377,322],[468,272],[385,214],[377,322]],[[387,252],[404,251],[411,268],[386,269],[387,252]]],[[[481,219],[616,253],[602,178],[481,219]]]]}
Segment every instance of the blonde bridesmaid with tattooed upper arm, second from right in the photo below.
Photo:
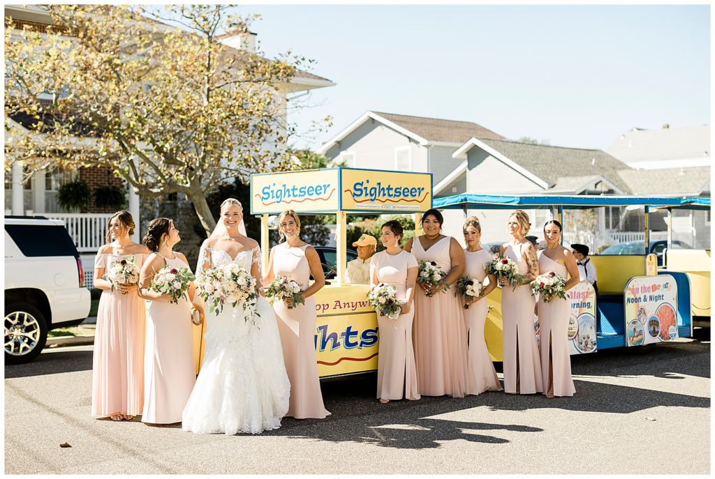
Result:
{"type": "Polygon", "coordinates": [[[534,306],[531,281],[538,276],[536,248],[526,239],[531,223],[526,211],[516,210],[509,216],[508,230],[513,240],[504,243],[500,256],[511,258],[525,275],[516,291],[503,285],[501,316],[503,322],[504,392],[533,394],[543,391],[541,360],[534,333],[534,306]]]}

